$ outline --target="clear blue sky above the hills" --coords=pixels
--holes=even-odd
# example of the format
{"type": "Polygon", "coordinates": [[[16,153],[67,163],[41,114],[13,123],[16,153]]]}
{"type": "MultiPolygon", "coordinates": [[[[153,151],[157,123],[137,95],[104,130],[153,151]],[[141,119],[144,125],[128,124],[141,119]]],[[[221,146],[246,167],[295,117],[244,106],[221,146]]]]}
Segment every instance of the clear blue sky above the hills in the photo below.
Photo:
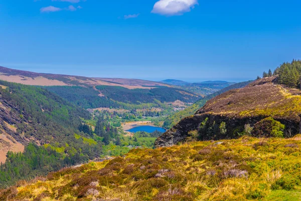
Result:
{"type": "Polygon", "coordinates": [[[301,59],[301,1],[0,0],[0,65],[94,77],[254,79],[301,59]]]}

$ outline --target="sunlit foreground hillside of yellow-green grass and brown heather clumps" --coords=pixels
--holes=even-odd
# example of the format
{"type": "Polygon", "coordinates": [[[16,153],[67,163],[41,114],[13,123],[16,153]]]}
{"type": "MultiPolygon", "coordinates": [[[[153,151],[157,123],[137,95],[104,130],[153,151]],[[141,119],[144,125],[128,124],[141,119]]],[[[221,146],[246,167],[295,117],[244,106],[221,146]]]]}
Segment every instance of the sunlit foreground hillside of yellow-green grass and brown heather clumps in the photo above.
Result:
{"type": "Polygon", "coordinates": [[[0,191],[0,200],[299,200],[301,136],[131,150],[0,191]]]}

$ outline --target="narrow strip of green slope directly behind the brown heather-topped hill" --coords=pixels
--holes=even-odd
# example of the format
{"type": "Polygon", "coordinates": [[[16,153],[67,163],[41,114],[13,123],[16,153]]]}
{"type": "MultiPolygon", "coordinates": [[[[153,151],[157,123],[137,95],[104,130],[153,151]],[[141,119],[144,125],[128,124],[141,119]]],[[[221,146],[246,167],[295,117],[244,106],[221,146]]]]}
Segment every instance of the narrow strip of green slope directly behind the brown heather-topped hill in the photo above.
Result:
{"type": "Polygon", "coordinates": [[[175,114],[172,114],[170,116],[168,116],[163,124],[163,126],[166,129],[170,129],[173,126],[175,126],[178,122],[180,122],[183,118],[194,115],[200,108],[202,108],[205,103],[210,100],[211,98],[220,95],[228,90],[231,89],[235,89],[235,88],[242,88],[245,87],[246,85],[248,85],[249,83],[253,82],[253,80],[251,81],[244,81],[244,82],[239,82],[239,83],[235,83],[235,84],[231,84],[230,86],[227,86],[215,93],[212,93],[210,95],[207,95],[203,98],[201,98],[200,100],[198,100],[196,103],[194,103],[193,105],[189,106],[188,108],[179,111],[175,114]]]}

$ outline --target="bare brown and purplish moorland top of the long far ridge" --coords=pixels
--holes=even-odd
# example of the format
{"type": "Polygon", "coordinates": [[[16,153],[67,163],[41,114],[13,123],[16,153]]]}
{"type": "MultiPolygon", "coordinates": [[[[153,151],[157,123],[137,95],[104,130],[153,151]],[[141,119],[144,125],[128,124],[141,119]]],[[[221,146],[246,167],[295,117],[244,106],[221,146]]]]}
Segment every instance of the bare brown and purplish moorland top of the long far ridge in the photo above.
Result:
{"type": "Polygon", "coordinates": [[[36,73],[24,70],[15,70],[0,66],[0,79],[28,85],[39,86],[122,86],[125,88],[150,88],[155,86],[168,86],[160,82],[140,79],[119,78],[92,78],[74,75],[36,73]]]}

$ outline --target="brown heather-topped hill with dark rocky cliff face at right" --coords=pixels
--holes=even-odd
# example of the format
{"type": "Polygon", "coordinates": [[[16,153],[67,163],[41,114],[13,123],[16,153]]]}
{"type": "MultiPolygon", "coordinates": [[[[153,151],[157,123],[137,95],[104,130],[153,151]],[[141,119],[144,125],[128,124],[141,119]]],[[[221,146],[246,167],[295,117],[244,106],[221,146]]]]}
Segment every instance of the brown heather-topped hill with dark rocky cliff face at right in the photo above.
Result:
{"type": "MultiPolygon", "coordinates": [[[[192,135],[197,135],[199,140],[236,138],[243,135],[245,125],[257,128],[267,124],[270,132],[279,125],[278,132],[284,137],[299,133],[301,91],[274,84],[276,79],[259,79],[210,99],[195,115],[184,118],[158,138],[156,146],[171,146],[192,135]],[[265,119],[268,117],[273,120],[265,119]]],[[[259,135],[254,132],[255,128],[252,135],[259,135]]]]}

